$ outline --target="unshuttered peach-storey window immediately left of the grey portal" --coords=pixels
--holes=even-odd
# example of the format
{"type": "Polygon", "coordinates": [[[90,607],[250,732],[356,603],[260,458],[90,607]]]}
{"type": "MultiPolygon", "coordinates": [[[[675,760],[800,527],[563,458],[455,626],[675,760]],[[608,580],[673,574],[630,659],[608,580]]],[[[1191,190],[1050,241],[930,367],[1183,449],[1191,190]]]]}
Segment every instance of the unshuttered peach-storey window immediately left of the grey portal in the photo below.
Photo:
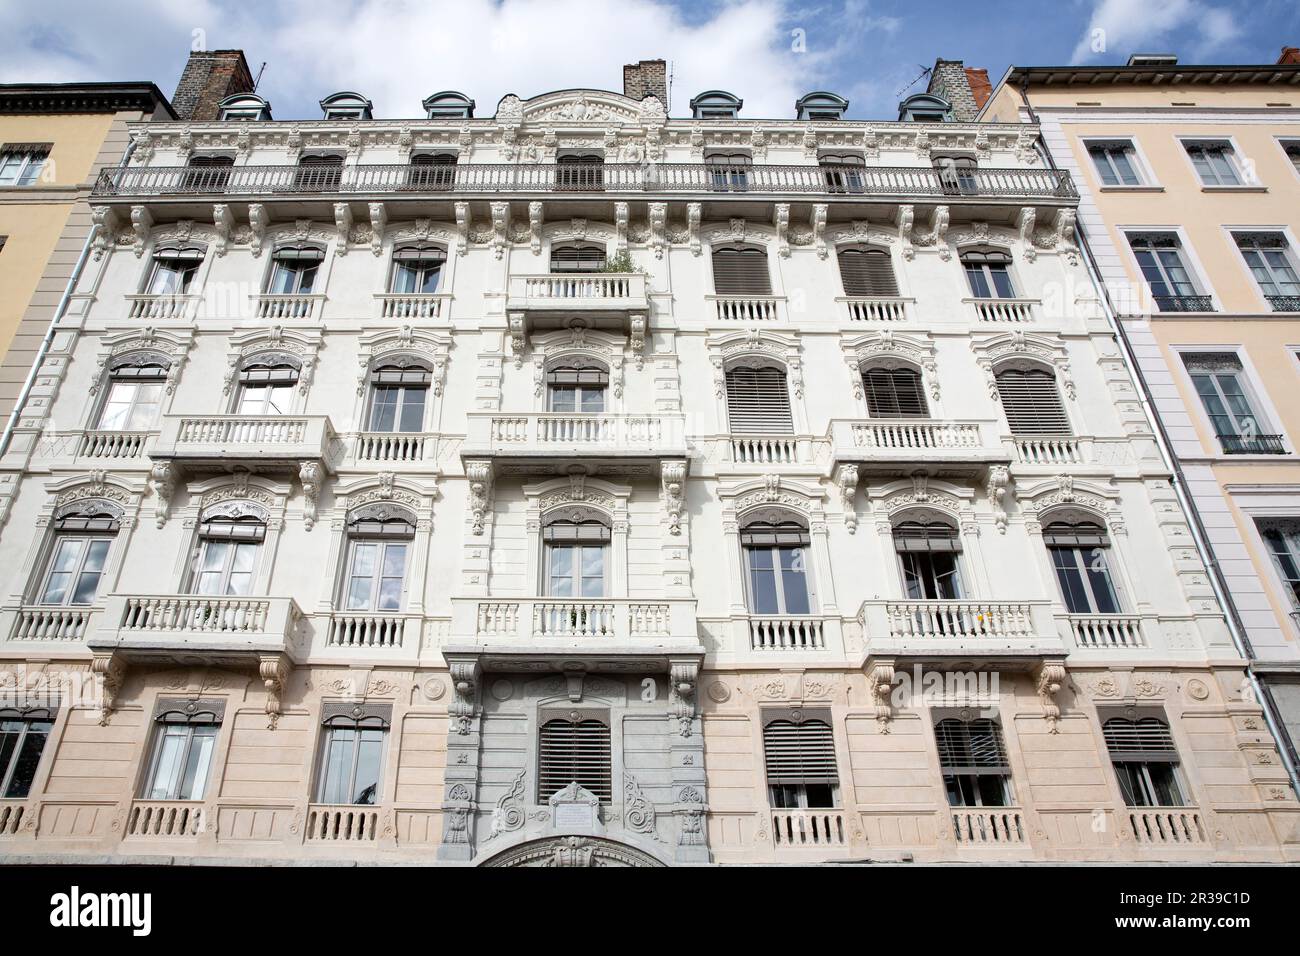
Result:
{"type": "Polygon", "coordinates": [[[391,721],[391,704],[326,704],[321,709],[324,734],[316,784],[320,803],[361,806],[380,803],[391,721]]]}

